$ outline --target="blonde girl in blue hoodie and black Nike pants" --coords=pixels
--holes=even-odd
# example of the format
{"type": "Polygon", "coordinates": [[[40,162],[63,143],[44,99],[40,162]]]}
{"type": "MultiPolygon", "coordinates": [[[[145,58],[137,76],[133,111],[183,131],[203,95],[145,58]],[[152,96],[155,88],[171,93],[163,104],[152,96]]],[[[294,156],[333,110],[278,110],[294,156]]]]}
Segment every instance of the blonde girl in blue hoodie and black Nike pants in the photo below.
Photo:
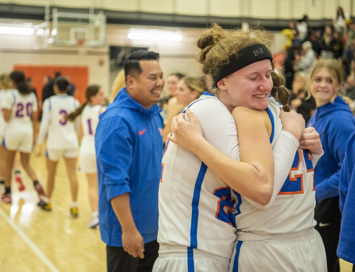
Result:
{"type": "Polygon", "coordinates": [[[346,142],[355,130],[354,115],[343,98],[338,96],[343,73],[336,61],[320,60],[313,67],[308,83],[308,96],[316,99],[317,109],[307,126],[313,126],[319,133],[324,149],[314,172],[317,200],[315,228],[323,239],[329,272],[339,271],[339,174],[346,142]]]}

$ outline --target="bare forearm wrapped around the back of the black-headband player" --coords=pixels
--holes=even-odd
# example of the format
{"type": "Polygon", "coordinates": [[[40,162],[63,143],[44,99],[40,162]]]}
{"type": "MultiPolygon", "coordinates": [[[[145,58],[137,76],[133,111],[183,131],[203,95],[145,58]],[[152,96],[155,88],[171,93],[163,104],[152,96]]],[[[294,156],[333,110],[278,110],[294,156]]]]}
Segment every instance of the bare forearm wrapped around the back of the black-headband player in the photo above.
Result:
{"type": "Polygon", "coordinates": [[[236,161],[204,139],[192,151],[233,190],[262,205],[269,201],[273,177],[266,175],[261,163],[236,161]]]}

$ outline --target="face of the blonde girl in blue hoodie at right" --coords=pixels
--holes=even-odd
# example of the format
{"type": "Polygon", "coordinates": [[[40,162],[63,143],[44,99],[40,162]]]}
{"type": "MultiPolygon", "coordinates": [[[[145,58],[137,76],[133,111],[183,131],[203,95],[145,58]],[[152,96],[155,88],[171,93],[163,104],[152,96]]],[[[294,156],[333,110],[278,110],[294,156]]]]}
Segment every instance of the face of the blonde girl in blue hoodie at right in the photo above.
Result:
{"type": "Polygon", "coordinates": [[[336,91],[333,78],[326,68],[322,68],[314,74],[311,79],[310,92],[316,99],[317,107],[331,102],[336,91]]]}

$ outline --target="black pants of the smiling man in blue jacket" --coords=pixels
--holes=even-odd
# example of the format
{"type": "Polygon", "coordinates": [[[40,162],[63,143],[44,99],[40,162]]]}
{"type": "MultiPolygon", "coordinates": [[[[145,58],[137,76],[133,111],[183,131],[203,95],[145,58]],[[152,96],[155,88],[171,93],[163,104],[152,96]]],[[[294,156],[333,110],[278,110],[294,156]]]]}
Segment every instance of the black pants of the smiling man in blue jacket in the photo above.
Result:
{"type": "Polygon", "coordinates": [[[134,258],[123,247],[106,246],[108,272],[150,272],[158,258],[157,240],[144,244],[144,258],[134,258]]]}

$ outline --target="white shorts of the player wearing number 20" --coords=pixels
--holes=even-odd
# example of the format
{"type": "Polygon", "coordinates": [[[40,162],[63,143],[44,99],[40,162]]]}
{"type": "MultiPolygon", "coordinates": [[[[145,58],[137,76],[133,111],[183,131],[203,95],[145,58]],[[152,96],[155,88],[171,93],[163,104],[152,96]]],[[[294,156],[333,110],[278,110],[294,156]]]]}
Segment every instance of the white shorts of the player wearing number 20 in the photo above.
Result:
{"type": "Polygon", "coordinates": [[[5,133],[2,146],[10,151],[33,152],[33,133],[5,133]]]}

